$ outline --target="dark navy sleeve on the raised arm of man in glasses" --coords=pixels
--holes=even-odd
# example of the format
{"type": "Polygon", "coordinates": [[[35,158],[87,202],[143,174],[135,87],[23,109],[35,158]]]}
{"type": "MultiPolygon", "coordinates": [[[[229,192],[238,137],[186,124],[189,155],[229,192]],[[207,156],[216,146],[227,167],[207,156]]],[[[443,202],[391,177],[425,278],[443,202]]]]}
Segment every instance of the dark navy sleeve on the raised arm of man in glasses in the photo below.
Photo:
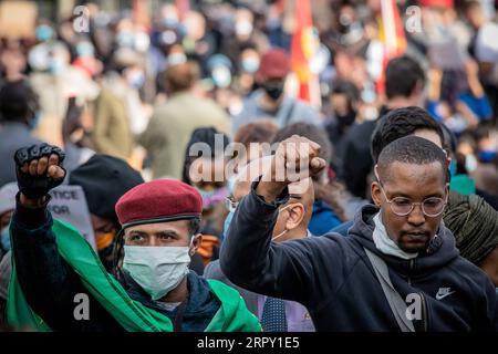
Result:
{"type": "Polygon", "coordinates": [[[278,205],[267,204],[256,187],[257,183],[234,215],[221,247],[221,271],[243,289],[314,306],[332,291],[332,277],[323,271],[341,273],[341,257],[334,256],[333,247],[324,247],[334,242],[325,238],[271,242],[278,205]]]}

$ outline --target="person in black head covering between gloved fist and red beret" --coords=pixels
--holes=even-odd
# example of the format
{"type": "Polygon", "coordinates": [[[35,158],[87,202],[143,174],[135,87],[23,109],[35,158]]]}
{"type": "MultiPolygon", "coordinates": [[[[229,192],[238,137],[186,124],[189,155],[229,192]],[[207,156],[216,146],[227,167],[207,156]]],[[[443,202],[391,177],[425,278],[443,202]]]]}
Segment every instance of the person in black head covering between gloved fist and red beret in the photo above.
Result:
{"type": "Polygon", "coordinates": [[[113,249],[120,221],[114,206],[129,189],[144,183],[141,174],[126,162],[108,155],[94,155],[69,176],[69,184],[85,194],[101,262],[112,267],[113,249]]]}

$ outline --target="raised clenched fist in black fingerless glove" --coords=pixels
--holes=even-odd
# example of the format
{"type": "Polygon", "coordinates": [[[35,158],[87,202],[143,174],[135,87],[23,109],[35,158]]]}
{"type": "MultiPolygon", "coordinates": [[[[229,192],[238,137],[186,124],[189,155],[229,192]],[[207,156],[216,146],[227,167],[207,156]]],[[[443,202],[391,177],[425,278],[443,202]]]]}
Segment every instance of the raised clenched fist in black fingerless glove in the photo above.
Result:
{"type": "Polygon", "coordinates": [[[64,152],[48,144],[23,147],[15,152],[15,171],[21,195],[28,199],[40,199],[52,188],[62,184],[64,152]]]}

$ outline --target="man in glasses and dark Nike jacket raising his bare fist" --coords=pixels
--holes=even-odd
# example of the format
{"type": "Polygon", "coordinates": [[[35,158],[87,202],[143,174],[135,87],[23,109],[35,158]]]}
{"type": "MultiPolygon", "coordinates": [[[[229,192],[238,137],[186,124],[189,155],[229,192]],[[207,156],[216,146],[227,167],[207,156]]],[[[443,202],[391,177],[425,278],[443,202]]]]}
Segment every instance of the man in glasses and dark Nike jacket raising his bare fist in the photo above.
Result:
{"type": "Polygon", "coordinates": [[[270,242],[279,206],[289,198],[279,168],[319,173],[325,167],[319,150],[300,136],[280,144],[272,168],[234,216],[220,254],[228,279],[302,303],[317,331],[497,331],[495,287],[459,257],[442,222],[446,155],[425,138],[403,137],[382,150],[375,205],[356,215],[350,237],[270,242]]]}

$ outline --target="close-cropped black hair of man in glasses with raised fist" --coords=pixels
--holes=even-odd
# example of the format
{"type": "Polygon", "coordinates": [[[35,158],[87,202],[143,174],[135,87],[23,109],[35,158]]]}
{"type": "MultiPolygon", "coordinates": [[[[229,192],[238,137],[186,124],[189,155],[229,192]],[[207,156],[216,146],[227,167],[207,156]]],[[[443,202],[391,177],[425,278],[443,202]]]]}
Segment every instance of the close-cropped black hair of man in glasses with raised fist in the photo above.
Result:
{"type": "Polygon", "coordinates": [[[418,136],[405,136],[387,145],[378,156],[378,176],[384,183],[392,178],[388,168],[393,163],[427,165],[439,163],[444,180],[447,180],[448,168],[446,155],[436,144],[418,136]]]}

